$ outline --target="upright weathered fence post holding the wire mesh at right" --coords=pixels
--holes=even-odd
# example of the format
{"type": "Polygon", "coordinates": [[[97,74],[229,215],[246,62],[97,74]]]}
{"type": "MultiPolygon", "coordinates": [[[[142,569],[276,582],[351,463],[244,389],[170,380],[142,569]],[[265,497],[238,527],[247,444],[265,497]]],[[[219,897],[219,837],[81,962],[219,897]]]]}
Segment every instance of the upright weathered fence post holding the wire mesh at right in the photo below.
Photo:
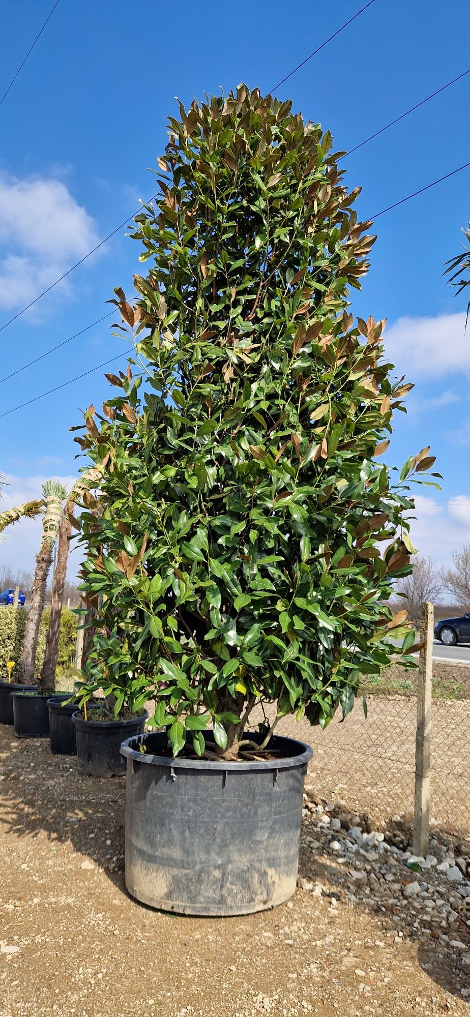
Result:
{"type": "Polygon", "coordinates": [[[432,641],[434,608],[428,601],[421,605],[418,691],[416,706],[416,747],[414,784],[413,852],[425,857],[429,848],[429,783],[431,732],[432,641]]]}

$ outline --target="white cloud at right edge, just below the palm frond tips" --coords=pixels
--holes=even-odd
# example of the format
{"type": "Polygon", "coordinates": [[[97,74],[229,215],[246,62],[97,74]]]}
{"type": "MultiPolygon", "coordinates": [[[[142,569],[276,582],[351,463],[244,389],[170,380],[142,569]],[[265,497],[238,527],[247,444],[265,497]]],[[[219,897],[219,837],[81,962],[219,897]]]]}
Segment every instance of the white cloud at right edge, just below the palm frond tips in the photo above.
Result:
{"type": "Polygon", "coordinates": [[[438,317],[399,318],[385,333],[386,354],[411,381],[470,371],[466,312],[438,317]]]}

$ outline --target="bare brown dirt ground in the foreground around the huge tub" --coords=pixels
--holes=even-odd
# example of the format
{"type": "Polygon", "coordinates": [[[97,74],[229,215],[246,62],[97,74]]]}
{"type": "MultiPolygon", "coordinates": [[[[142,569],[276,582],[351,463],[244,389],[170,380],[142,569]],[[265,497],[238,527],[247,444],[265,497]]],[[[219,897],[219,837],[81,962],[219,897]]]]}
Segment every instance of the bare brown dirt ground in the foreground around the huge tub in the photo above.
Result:
{"type": "Polygon", "coordinates": [[[81,778],[47,740],[0,726],[0,1017],[470,1014],[437,945],[348,906],[307,845],[310,889],[273,911],[195,919],[137,904],[124,799],[124,779],[81,778]]]}

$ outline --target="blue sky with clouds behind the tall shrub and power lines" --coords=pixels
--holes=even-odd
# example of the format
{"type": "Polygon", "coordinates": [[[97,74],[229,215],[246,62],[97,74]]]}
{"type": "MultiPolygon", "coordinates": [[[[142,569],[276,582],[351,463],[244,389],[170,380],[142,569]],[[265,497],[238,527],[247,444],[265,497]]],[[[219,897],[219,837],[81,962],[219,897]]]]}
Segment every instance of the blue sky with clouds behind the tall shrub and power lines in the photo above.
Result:
{"type": "MultiPolygon", "coordinates": [[[[60,0],[0,107],[0,326],[154,193],[174,97],[185,105],[240,80],[273,88],[351,17],[361,0],[183,2],[60,0]],[[131,17],[130,15],[131,11],[131,17]]],[[[52,7],[18,0],[2,11],[0,95],[52,7]]],[[[375,0],[278,95],[329,128],[348,149],[470,66],[470,8],[462,0],[375,0]]],[[[470,74],[346,160],[361,185],[363,218],[470,159],[470,74]]],[[[470,218],[470,169],[376,220],[371,271],[352,310],[387,317],[391,359],[416,383],[388,454],[401,463],[430,444],[442,492],[418,498],[419,549],[448,562],[470,543],[470,335],[465,301],[443,279],[470,218]]],[[[0,332],[1,377],[106,314],[113,286],[131,291],[137,244],[125,230],[27,313],[0,332]]],[[[112,321],[110,318],[109,321],[112,321]]],[[[122,340],[96,325],[0,383],[0,413],[115,357],[122,340]]],[[[116,369],[118,363],[109,369],[116,369]]],[[[35,494],[42,479],[76,475],[68,427],[108,388],[97,371],[0,418],[2,504],[35,494]]],[[[401,415],[399,415],[401,417],[401,415]]],[[[30,567],[35,524],[12,528],[0,564],[30,567]]]]}

